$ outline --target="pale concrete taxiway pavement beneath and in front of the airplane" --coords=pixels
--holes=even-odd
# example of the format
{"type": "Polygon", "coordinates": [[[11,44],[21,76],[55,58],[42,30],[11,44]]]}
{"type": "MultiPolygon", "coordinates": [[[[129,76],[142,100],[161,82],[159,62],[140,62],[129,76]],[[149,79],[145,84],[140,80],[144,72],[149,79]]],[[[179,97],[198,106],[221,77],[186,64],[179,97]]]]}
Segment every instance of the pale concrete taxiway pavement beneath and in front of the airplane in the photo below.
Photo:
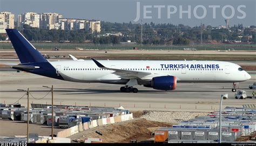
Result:
{"type": "MultiPolygon", "coordinates": [[[[252,95],[248,85],[256,82],[256,75],[250,81],[239,83],[239,89],[252,95]]],[[[54,103],[64,105],[106,106],[134,110],[160,110],[160,111],[213,111],[219,108],[220,95],[228,93],[228,99],[223,102],[225,106],[241,106],[253,104],[256,99],[234,99],[231,92],[232,83],[178,83],[177,90],[159,91],[151,88],[137,86],[138,93],[122,93],[122,85],[100,83],[74,83],[60,81],[48,77],[33,75],[25,72],[0,72],[1,103],[12,104],[21,98],[25,92],[17,89],[31,91],[31,103],[50,104],[50,90],[42,86],[54,86],[54,103]],[[224,89],[223,89],[224,88],[224,89]],[[44,97],[44,98],[43,98],[44,97]],[[40,99],[43,98],[43,99],[40,99]]],[[[26,96],[19,103],[26,105],[26,96]]]]}

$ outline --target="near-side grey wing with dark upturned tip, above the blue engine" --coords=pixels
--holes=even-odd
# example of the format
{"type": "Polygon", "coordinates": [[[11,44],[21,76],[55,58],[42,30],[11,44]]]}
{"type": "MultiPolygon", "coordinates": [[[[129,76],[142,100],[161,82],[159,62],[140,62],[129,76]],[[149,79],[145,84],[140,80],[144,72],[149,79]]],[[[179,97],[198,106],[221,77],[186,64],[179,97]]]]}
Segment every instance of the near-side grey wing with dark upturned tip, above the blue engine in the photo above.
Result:
{"type": "Polygon", "coordinates": [[[101,63],[99,63],[97,60],[91,58],[93,62],[96,63],[96,65],[99,68],[106,69],[106,70],[113,70],[114,72],[112,74],[122,76],[124,78],[142,78],[148,75],[151,75],[150,72],[144,72],[144,71],[133,71],[133,70],[124,70],[124,69],[114,69],[114,68],[107,68],[101,63]]]}

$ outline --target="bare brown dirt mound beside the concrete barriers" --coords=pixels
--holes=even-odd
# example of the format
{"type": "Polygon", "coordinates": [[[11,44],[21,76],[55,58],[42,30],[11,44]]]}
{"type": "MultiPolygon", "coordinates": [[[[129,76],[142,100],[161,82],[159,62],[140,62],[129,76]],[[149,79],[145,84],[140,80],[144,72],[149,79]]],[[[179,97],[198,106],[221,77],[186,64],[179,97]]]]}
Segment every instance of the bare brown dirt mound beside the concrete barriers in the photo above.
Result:
{"type": "Polygon", "coordinates": [[[170,126],[172,125],[164,122],[134,119],[88,129],[82,133],[72,135],[69,138],[77,142],[84,141],[84,138],[102,138],[103,142],[107,143],[127,143],[130,142],[130,140],[142,141],[154,137],[151,135],[150,128],[152,127],[170,126]],[[102,133],[102,135],[97,134],[96,131],[102,133]]]}

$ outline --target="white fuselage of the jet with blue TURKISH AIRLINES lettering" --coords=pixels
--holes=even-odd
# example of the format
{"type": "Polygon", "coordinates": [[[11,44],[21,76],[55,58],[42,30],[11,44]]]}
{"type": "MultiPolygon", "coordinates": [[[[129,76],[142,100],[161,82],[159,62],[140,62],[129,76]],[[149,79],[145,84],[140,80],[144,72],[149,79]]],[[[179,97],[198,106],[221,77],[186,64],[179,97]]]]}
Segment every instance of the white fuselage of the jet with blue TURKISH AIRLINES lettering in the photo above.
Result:
{"type": "Polygon", "coordinates": [[[138,84],[151,81],[157,76],[176,76],[177,82],[242,82],[251,76],[239,65],[223,61],[144,61],[144,60],[99,60],[108,68],[150,72],[151,75],[123,77],[112,74],[114,71],[100,69],[92,60],[52,61],[65,81],[84,83],[126,84],[129,79],[137,78],[138,84]],[[183,64],[183,65],[181,65],[183,64]]]}

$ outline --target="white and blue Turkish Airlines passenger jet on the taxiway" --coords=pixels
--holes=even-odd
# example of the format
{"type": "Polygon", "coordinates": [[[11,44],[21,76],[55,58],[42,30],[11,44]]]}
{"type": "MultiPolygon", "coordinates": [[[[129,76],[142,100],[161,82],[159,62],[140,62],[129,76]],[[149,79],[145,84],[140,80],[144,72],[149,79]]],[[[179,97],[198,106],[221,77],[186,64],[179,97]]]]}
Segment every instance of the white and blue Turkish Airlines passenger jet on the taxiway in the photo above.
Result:
{"type": "MultiPolygon", "coordinates": [[[[16,29],[6,29],[21,63],[11,68],[63,81],[123,84],[122,92],[138,92],[134,86],[175,90],[177,83],[237,83],[251,76],[239,65],[224,61],[73,60],[48,61],[16,29]]],[[[235,92],[235,86],[232,88],[235,92]]]]}

